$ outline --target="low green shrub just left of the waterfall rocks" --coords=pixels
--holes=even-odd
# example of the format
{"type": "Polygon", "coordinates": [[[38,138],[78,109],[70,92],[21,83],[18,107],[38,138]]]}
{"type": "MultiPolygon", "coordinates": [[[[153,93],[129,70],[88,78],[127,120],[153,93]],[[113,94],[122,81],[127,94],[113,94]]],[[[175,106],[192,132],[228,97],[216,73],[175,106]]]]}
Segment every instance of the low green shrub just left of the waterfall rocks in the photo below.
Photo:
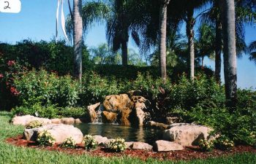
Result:
{"type": "Polygon", "coordinates": [[[59,111],[59,115],[62,117],[74,117],[79,118],[86,114],[86,110],[78,107],[66,107],[59,111]]]}

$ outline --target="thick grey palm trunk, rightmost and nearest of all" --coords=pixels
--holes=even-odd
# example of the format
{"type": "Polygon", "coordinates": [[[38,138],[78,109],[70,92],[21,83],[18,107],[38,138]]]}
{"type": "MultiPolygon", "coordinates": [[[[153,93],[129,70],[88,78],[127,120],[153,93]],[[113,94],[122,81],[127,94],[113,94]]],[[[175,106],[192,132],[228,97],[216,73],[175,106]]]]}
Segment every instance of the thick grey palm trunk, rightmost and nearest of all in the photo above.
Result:
{"type": "Polygon", "coordinates": [[[237,103],[236,26],[234,0],[222,0],[223,55],[227,106],[237,103]]]}

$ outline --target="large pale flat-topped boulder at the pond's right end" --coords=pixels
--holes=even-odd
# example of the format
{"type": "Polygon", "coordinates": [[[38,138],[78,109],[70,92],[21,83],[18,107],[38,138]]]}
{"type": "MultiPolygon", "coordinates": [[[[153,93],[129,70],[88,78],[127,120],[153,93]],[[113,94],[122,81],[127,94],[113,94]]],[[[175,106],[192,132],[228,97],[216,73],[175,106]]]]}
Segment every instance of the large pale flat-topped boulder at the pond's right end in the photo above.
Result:
{"type": "Polygon", "coordinates": [[[208,139],[211,128],[202,125],[175,123],[165,130],[163,139],[174,141],[182,146],[198,145],[200,139],[208,139]]]}

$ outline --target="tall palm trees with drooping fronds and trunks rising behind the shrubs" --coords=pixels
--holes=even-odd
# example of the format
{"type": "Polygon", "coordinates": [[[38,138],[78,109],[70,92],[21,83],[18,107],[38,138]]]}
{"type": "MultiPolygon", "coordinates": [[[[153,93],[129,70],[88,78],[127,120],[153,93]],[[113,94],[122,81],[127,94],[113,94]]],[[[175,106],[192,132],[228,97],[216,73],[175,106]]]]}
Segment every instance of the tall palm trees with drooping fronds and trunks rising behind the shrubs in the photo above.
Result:
{"type": "Polygon", "coordinates": [[[256,61],[256,42],[249,48],[244,42],[244,25],[255,23],[255,0],[74,0],[73,4],[66,24],[67,33],[74,39],[77,76],[81,76],[82,28],[86,34],[94,23],[105,22],[108,45],[113,52],[121,50],[123,66],[129,64],[127,44],[132,36],[141,54],[155,50],[154,62],[164,80],[168,58],[185,55],[191,79],[195,77],[195,58],[200,58],[203,66],[208,56],[215,59],[215,77],[220,82],[223,54],[227,105],[236,106],[236,58],[249,51],[249,58],[256,61]],[[196,23],[200,24],[197,39],[196,23]],[[186,25],[187,41],[181,44],[177,38],[182,24],[186,25]]]}

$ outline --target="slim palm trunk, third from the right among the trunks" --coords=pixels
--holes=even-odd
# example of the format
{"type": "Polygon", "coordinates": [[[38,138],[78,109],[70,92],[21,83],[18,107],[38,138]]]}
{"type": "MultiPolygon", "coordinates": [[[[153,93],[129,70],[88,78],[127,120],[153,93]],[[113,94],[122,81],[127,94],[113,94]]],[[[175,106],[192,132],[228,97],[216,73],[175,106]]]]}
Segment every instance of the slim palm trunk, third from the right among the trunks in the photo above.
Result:
{"type": "Polygon", "coordinates": [[[194,79],[195,77],[195,44],[194,44],[194,26],[195,19],[193,17],[194,9],[188,9],[187,11],[187,39],[189,44],[189,77],[194,79]]]}

